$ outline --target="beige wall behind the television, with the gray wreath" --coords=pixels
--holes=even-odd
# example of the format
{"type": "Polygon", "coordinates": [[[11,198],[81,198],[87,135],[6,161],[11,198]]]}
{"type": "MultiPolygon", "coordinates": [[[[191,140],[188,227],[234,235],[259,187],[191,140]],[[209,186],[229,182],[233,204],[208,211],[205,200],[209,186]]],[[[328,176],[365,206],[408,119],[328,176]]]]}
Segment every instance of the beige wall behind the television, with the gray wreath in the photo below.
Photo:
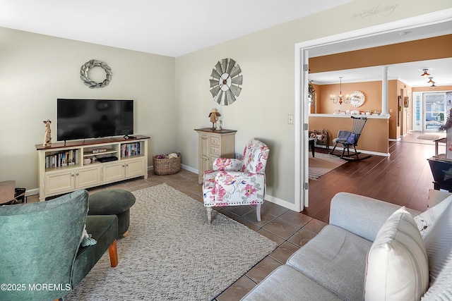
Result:
{"type": "MultiPolygon", "coordinates": [[[[57,139],[57,98],[134,99],[135,131],[152,137],[149,154],[174,151],[174,58],[0,27],[0,66],[0,180],[38,187],[35,145],[47,119],[57,139]],[[83,84],[80,68],[90,59],[112,68],[107,87],[83,84]]],[[[93,68],[90,76],[102,81],[105,72],[93,68]]]]}

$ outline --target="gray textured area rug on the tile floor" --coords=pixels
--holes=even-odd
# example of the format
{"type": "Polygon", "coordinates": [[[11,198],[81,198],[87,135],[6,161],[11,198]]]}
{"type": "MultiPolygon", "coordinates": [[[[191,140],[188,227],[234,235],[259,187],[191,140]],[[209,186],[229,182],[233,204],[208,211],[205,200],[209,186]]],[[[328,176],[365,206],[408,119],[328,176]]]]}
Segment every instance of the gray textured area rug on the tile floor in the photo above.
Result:
{"type": "Polygon", "coordinates": [[[130,235],[64,300],[212,300],[277,244],[166,184],[133,192],[130,235]]]}

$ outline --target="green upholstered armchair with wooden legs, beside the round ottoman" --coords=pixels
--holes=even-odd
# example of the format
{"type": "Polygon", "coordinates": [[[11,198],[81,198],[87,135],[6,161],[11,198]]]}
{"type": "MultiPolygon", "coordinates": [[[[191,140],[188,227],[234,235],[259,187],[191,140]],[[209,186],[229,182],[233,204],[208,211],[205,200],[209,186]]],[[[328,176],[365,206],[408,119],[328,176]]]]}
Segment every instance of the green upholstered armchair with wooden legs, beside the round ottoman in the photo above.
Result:
{"type": "Polygon", "coordinates": [[[106,250],[117,266],[117,216],[87,213],[86,190],[0,207],[0,300],[64,297],[106,250]],[[81,247],[85,226],[95,245],[81,247]]]}

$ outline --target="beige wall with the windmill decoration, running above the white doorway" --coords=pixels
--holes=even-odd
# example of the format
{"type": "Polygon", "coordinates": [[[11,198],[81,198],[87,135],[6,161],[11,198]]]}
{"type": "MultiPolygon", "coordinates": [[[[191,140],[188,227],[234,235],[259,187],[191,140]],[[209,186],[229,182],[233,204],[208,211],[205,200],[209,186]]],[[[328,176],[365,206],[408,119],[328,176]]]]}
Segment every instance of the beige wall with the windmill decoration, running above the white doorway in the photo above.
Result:
{"type": "Polygon", "coordinates": [[[177,145],[185,164],[197,168],[194,128],[209,125],[208,113],[216,108],[225,128],[237,130],[236,152],[252,137],[270,146],[267,169],[268,195],[294,203],[295,129],[287,115],[295,110],[295,43],[363,27],[388,23],[450,8],[451,2],[353,1],[268,30],[208,47],[176,59],[176,99],[179,104],[177,145]],[[395,6],[392,13],[365,15],[375,6],[395,6]],[[359,16],[359,17],[356,17],[359,16]],[[242,68],[243,90],[237,102],[219,106],[210,95],[209,79],[218,60],[232,58],[242,68]]]}

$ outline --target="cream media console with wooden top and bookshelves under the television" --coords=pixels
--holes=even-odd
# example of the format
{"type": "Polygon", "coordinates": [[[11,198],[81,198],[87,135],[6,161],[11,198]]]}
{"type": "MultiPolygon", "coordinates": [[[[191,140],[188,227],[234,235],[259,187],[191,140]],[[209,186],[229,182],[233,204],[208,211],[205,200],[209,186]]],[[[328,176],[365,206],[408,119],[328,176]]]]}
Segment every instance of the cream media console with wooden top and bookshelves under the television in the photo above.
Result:
{"type": "Polygon", "coordinates": [[[141,176],[148,178],[149,138],[137,135],[133,139],[109,137],[57,142],[50,147],[35,145],[40,202],[78,189],[141,176]],[[99,161],[102,158],[111,161],[99,161]]]}

